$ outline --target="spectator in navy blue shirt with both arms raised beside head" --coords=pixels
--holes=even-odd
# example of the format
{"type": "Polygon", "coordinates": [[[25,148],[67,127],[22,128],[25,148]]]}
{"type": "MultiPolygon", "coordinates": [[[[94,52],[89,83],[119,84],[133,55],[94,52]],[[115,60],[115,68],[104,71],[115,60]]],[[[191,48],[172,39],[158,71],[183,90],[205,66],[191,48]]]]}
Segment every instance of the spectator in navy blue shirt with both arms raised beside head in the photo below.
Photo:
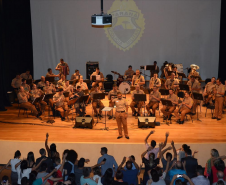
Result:
{"type": "Polygon", "coordinates": [[[119,165],[118,170],[122,169],[122,166],[124,165],[124,163],[126,162],[126,170],[121,171],[123,174],[123,182],[127,182],[128,184],[137,184],[137,175],[139,173],[139,166],[137,165],[137,163],[131,159],[132,161],[127,161],[126,162],[126,157],[123,158],[122,163],[119,165]],[[133,164],[135,166],[136,169],[132,169],[133,164]]]}

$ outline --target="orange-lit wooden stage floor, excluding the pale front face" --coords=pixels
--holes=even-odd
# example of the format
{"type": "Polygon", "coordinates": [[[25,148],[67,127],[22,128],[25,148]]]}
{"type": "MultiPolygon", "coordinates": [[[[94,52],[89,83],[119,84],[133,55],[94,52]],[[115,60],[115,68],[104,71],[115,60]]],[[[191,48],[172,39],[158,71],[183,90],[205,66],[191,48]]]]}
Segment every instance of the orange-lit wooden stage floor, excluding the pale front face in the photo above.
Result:
{"type": "MultiPolygon", "coordinates": [[[[128,103],[130,103],[130,95],[127,95],[128,103]]],[[[103,100],[105,106],[108,106],[107,96],[103,100]]],[[[160,105],[161,108],[161,105],[160,105]]],[[[104,128],[104,120],[98,123],[93,129],[73,129],[74,121],[62,122],[60,118],[55,119],[55,123],[48,124],[47,111],[42,115],[42,121],[35,119],[34,116],[26,114],[23,115],[23,111],[18,117],[17,104],[12,107],[7,107],[7,111],[0,112],[0,140],[8,141],[44,141],[45,134],[48,132],[52,142],[69,142],[69,143],[126,143],[126,144],[141,144],[144,142],[144,138],[152,129],[140,129],[138,128],[138,119],[132,117],[131,109],[129,108],[128,116],[128,131],[130,139],[125,138],[116,139],[118,136],[116,120],[108,120],[107,127],[109,131],[101,130],[104,128]]],[[[174,140],[175,143],[224,143],[226,142],[226,116],[223,114],[223,118],[220,121],[211,119],[210,110],[207,111],[205,117],[206,108],[201,108],[201,114],[199,118],[202,122],[196,120],[196,115],[193,116],[193,123],[188,117],[188,121],[185,121],[183,125],[179,125],[175,122],[175,118],[172,118],[172,124],[166,125],[162,120],[162,114],[159,116],[159,112],[156,113],[156,120],[160,122],[160,126],[154,128],[155,134],[151,138],[154,138],[157,143],[163,142],[165,138],[165,132],[170,132],[170,140],[174,140]]],[[[30,113],[30,111],[29,111],[30,113]]],[[[87,106],[87,114],[92,115],[91,105],[87,106]]],[[[72,115],[69,116],[71,118],[72,115]]],[[[94,119],[96,122],[96,118],[94,119]]]]}

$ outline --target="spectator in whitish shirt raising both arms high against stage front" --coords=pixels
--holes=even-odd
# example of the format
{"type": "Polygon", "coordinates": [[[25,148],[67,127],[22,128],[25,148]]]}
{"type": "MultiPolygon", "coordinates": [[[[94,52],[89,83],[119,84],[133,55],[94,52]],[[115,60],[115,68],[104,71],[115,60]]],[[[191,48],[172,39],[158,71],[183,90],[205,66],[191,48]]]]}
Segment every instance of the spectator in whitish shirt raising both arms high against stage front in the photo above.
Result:
{"type": "MultiPolygon", "coordinates": [[[[150,151],[147,152],[147,154],[146,154],[146,156],[145,156],[146,159],[149,159],[148,156],[149,156],[150,153],[154,153],[154,154],[155,154],[155,159],[158,157],[159,148],[155,148],[155,146],[156,146],[156,141],[155,141],[155,140],[152,140],[151,143],[150,143],[150,145],[148,144],[148,138],[150,137],[151,134],[154,134],[154,133],[155,133],[155,131],[152,130],[152,131],[147,135],[147,137],[146,137],[145,140],[144,140],[146,149],[148,149],[149,147],[152,148],[152,150],[150,150],[150,151]]],[[[168,138],[168,137],[169,137],[169,133],[166,132],[166,139],[165,139],[165,141],[164,141],[164,143],[163,143],[162,148],[164,148],[164,147],[166,146],[167,138],[168,138]]]]}

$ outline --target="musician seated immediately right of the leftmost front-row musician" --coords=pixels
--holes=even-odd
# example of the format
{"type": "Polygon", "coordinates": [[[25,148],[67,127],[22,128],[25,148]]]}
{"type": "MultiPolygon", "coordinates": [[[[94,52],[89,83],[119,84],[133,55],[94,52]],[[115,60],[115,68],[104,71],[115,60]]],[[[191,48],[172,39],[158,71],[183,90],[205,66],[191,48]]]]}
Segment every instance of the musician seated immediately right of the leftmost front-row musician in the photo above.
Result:
{"type": "MultiPolygon", "coordinates": [[[[44,95],[44,92],[41,89],[38,89],[36,84],[32,85],[32,90],[31,90],[31,100],[32,102],[35,101],[36,98],[39,98],[40,96],[44,95]]],[[[35,106],[38,107],[39,111],[44,111],[47,103],[44,102],[43,100],[36,102],[35,106]]]]}

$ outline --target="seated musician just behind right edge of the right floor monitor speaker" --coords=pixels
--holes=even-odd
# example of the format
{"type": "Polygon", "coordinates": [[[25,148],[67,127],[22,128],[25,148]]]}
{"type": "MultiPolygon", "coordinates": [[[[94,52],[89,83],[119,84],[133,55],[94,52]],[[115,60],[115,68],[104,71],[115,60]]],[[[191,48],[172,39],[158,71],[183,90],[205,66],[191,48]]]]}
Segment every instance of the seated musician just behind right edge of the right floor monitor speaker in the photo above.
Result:
{"type": "Polygon", "coordinates": [[[161,93],[158,91],[158,87],[154,86],[153,91],[149,95],[149,103],[146,105],[147,112],[150,116],[155,117],[155,110],[159,107],[160,98],[161,93]]]}

